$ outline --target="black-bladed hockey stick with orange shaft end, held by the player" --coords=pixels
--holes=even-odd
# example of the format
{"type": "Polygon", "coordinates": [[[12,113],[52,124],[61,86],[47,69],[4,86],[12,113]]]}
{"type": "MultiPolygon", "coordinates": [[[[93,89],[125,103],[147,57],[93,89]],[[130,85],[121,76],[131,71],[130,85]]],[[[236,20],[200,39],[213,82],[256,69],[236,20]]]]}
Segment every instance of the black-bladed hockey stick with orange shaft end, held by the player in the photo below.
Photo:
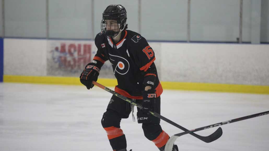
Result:
{"type": "MultiPolygon", "coordinates": [[[[135,103],[134,101],[132,101],[132,100],[126,98],[125,96],[122,96],[122,95],[116,93],[115,91],[113,91],[113,90],[111,90],[111,89],[105,87],[104,85],[101,85],[101,84],[99,84],[99,83],[97,83],[97,82],[95,82],[95,81],[93,81],[92,83],[93,83],[94,85],[96,85],[97,87],[99,87],[99,88],[101,88],[101,89],[104,89],[105,91],[108,91],[109,93],[111,93],[111,94],[113,94],[113,95],[115,95],[115,96],[117,96],[117,97],[119,97],[119,98],[121,98],[121,99],[123,99],[123,100],[129,102],[130,104],[133,104],[133,105],[137,106],[137,107],[140,108],[140,109],[143,108],[143,106],[141,106],[140,104],[135,103]]],[[[176,124],[175,122],[169,120],[168,118],[165,118],[165,117],[161,116],[160,114],[158,114],[158,113],[156,113],[156,112],[151,112],[151,111],[149,111],[148,113],[150,113],[150,114],[152,114],[153,116],[156,116],[156,117],[158,117],[158,118],[160,118],[160,119],[166,121],[166,122],[169,123],[169,124],[174,125],[175,127],[179,128],[179,129],[181,129],[181,130],[183,130],[183,131],[185,131],[185,132],[186,132],[186,131],[189,131],[189,130],[187,130],[186,128],[184,128],[184,127],[182,127],[182,126],[176,124]]],[[[197,135],[197,134],[195,134],[195,133],[190,133],[190,135],[192,135],[192,136],[194,136],[194,137],[200,139],[201,141],[204,141],[204,142],[206,142],[206,143],[210,143],[210,142],[213,142],[213,141],[215,141],[216,139],[220,138],[220,136],[222,135],[222,129],[221,129],[221,127],[219,127],[213,134],[211,134],[211,135],[209,135],[209,136],[200,136],[200,135],[197,135]]],[[[172,150],[172,149],[171,149],[171,150],[172,150]]]]}

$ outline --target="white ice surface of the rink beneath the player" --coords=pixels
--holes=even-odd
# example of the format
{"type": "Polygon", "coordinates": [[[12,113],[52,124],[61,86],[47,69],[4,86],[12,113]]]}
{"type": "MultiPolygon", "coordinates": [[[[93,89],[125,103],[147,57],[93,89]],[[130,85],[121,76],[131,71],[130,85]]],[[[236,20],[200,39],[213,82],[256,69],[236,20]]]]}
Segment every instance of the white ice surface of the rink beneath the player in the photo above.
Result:
{"type": "MultiPolygon", "coordinates": [[[[0,150],[112,151],[101,125],[110,98],[98,87],[0,83],[0,150]]],[[[161,115],[188,129],[268,110],[269,95],[171,90],[161,95],[161,115]]],[[[183,132],[165,121],[161,126],[169,135],[183,132]]],[[[176,144],[180,151],[269,150],[269,115],[221,127],[223,135],[214,142],[184,135],[176,144]]],[[[121,128],[128,149],[158,150],[131,115],[121,128]]]]}

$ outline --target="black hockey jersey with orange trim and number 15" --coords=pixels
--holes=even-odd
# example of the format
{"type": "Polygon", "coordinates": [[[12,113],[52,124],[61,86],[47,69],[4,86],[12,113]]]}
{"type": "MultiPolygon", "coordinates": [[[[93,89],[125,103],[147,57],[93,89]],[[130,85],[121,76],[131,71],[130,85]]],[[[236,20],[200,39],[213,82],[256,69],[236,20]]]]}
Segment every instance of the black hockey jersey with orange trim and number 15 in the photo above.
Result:
{"type": "Polygon", "coordinates": [[[118,81],[115,92],[128,98],[143,99],[144,77],[154,75],[156,79],[152,89],[156,89],[157,97],[161,95],[163,90],[157,72],[147,73],[155,60],[154,51],[140,34],[124,30],[120,41],[114,44],[113,39],[100,32],[95,37],[95,45],[98,50],[93,62],[101,68],[105,61],[110,61],[118,81]]]}

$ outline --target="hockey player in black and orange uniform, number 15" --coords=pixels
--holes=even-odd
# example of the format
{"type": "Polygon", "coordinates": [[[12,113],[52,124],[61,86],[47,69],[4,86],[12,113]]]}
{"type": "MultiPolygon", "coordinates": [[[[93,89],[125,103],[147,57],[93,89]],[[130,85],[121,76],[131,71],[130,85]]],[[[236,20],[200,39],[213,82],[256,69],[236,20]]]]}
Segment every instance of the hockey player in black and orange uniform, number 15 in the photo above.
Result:
{"type": "MultiPolygon", "coordinates": [[[[80,81],[87,89],[92,88],[91,82],[97,81],[102,65],[109,60],[118,81],[115,92],[141,103],[143,109],[137,108],[138,123],[142,123],[146,138],[163,151],[169,136],[162,130],[160,119],[148,114],[149,110],[160,114],[163,91],[154,64],[155,54],[144,37],[126,30],[126,19],[122,5],[109,5],[104,10],[101,32],[95,37],[97,53],[81,73],[80,81]]],[[[127,151],[120,122],[122,118],[128,118],[131,111],[130,103],[113,95],[103,114],[101,124],[113,151],[127,151]]],[[[172,151],[178,151],[178,147],[174,145],[172,151]]]]}

